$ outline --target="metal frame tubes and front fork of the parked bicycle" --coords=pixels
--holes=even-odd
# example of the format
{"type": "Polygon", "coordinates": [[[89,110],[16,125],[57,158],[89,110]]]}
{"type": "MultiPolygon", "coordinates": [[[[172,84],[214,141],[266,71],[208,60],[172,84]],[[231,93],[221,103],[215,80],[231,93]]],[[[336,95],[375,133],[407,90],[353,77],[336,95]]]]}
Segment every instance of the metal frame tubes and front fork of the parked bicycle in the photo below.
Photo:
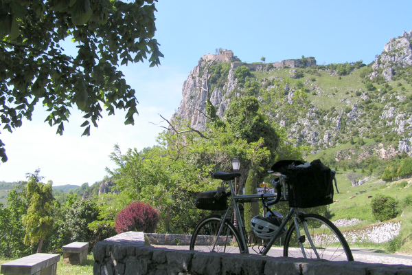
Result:
{"type": "MultiPolygon", "coordinates": [[[[240,210],[239,210],[238,203],[260,201],[262,199],[268,199],[268,198],[275,199],[275,194],[266,193],[266,194],[262,194],[262,195],[258,195],[258,194],[256,194],[256,195],[236,195],[235,190],[233,188],[232,181],[230,180],[230,181],[227,181],[227,182],[229,184],[229,188],[230,188],[230,191],[231,191],[231,200],[230,200],[229,206],[227,208],[227,211],[225,212],[225,215],[222,218],[222,221],[225,221],[228,218],[231,219],[232,212],[233,211],[235,212],[236,218],[237,218],[237,221],[238,221],[238,230],[240,232],[240,241],[242,242],[243,247],[244,247],[244,250],[241,250],[240,253],[249,254],[249,248],[247,246],[247,240],[246,240],[246,232],[244,231],[244,225],[243,225],[242,217],[240,216],[240,210]],[[228,215],[229,215],[229,217],[228,217],[228,215]]],[[[282,195],[282,194],[280,194],[280,195],[282,195]]],[[[293,219],[293,222],[295,223],[295,230],[297,232],[297,238],[298,239],[301,238],[300,228],[299,228],[299,213],[301,213],[299,211],[299,208],[290,208],[288,214],[286,215],[286,217],[282,221],[282,224],[279,226],[279,230],[277,230],[275,235],[271,238],[271,240],[268,242],[268,244],[266,245],[266,247],[262,251],[262,255],[266,255],[269,252],[269,250],[271,250],[273,243],[275,243],[277,237],[282,233],[282,228],[285,228],[286,224],[292,219],[293,219]]],[[[317,252],[317,249],[315,248],[314,243],[312,242],[312,239],[310,238],[310,234],[308,233],[308,228],[306,226],[306,223],[303,223],[303,224],[304,224],[304,231],[306,232],[306,236],[308,236],[308,241],[309,241],[312,249],[314,250],[314,253],[319,258],[319,254],[317,252]]],[[[218,230],[218,236],[220,236],[220,234],[222,233],[223,225],[224,225],[224,223],[222,222],[222,224],[220,225],[220,228],[218,230]]],[[[215,240],[214,247],[213,247],[212,251],[214,250],[217,242],[218,242],[218,239],[215,240]]],[[[299,242],[299,245],[301,247],[301,252],[304,255],[304,258],[306,258],[306,252],[304,250],[304,245],[301,242],[299,242]]]]}

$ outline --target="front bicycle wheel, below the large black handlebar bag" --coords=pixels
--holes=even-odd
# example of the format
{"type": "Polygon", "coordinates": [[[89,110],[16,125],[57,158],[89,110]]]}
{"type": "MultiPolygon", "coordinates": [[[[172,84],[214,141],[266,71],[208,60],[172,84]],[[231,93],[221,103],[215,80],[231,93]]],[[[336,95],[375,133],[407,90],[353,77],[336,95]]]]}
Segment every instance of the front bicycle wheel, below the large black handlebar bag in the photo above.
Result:
{"type": "Polygon", "coordinates": [[[284,256],[304,258],[302,243],[308,259],[354,261],[347,241],[331,221],[318,214],[301,214],[299,219],[301,238],[297,238],[295,223],[290,225],[285,237],[284,256]]]}

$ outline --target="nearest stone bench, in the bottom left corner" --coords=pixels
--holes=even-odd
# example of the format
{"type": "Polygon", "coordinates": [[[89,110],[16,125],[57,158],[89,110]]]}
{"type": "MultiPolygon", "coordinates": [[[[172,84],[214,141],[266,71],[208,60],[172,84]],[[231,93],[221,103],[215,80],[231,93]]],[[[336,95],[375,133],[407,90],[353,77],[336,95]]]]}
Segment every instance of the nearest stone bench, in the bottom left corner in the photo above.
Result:
{"type": "Polygon", "coordinates": [[[32,275],[60,261],[60,254],[37,253],[3,263],[1,274],[32,275]]]}

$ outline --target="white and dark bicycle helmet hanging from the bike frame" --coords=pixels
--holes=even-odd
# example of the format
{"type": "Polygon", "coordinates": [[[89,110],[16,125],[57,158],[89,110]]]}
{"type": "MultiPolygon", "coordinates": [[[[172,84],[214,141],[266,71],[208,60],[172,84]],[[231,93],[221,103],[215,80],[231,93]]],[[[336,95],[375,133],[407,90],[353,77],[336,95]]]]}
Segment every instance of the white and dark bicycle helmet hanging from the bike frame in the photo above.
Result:
{"type": "MultiPolygon", "coordinates": [[[[275,236],[275,233],[279,229],[279,226],[282,223],[282,219],[275,216],[269,217],[262,217],[260,215],[253,217],[251,220],[251,225],[253,228],[253,232],[255,232],[256,236],[260,239],[271,239],[275,236]]],[[[286,233],[286,228],[282,230],[282,233],[279,237],[282,237],[286,233]]]]}

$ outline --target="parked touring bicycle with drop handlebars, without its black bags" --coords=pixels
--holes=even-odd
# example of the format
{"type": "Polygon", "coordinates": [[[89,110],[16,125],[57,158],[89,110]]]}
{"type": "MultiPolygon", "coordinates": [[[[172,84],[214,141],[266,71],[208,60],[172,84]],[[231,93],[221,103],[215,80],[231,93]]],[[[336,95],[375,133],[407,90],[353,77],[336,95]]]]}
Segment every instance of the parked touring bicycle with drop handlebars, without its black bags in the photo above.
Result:
{"type": "MultiPolygon", "coordinates": [[[[205,217],[196,225],[190,242],[190,250],[250,254],[247,243],[248,236],[239,205],[242,205],[241,203],[262,201],[264,208],[274,214],[270,206],[279,201],[288,201],[286,176],[274,171],[268,172],[279,177],[277,181],[275,179],[272,181],[276,190],[275,194],[236,195],[232,181],[235,177],[239,177],[240,173],[215,172],[214,178],[222,180],[222,187],[218,188],[215,197],[218,197],[218,199],[229,197],[229,206],[227,206],[225,214],[205,217]],[[224,192],[224,190],[227,190],[227,187],[224,186],[225,182],[229,184],[229,192],[224,192]],[[284,192],[282,192],[282,189],[284,192]],[[233,213],[236,214],[238,228],[232,223],[233,213]]],[[[333,170],[332,173],[334,176],[335,172],[333,170]]],[[[334,181],[336,191],[339,192],[336,179],[334,181]]],[[[306,214],[300,211],[299,208],[291,207],[273,236],[264,239],[262,245],[258,247],[258,251],[254,248],[253,250],[257,254],[268,254],[279,236],[284,236],[283,256],[325,259],[328,261],[354,261],[343,234],[331,221],[319,214],[306,214]],[[285,230],[289,221],[293,222],[288,230],[285,230]]]]}

